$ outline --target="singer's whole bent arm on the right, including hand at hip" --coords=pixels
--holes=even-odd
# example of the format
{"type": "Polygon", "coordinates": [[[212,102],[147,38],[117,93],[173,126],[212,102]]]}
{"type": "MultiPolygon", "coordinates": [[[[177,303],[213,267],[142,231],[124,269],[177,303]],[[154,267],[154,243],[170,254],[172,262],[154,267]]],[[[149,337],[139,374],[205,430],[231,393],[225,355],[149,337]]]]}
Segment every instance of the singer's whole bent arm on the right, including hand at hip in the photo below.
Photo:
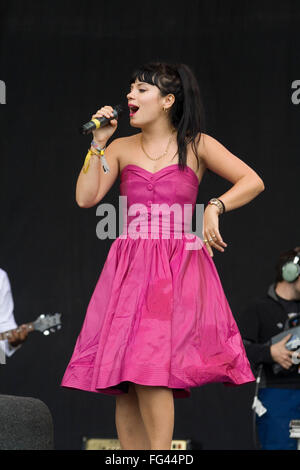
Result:
{"type": "MultiPolygon", "coordinates": [[[[258,174],[213,137],[202,133],[198,151],[207,168],[233,183],[226,193],[221,196],[213,195],[221,199],[226,212],[244,206],[265,189],[258,174]]],[[[227,243],[219,232],[219,209],[214,205],[207,205],[205,208],[203,235],[211,256],[212,248],[224,252],[227,243]]]]}

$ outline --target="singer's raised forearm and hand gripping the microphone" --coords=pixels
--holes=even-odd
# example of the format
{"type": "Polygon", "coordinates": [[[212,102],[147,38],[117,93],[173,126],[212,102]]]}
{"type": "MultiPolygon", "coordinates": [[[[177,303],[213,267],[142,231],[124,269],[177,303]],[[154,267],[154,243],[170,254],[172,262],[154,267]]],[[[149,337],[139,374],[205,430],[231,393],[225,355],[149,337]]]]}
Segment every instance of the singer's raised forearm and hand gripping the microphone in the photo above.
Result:
{"type": "MultiPolygon", "coordinates": [[[[92,119],[101,116],[110,117],[112,111],[111,106],[104,106],[92,116],[92,119]]],[[[109,125],[93,131],[93,138],[101,148],[105,147],[108,139],[116,131],[117,125],[118,121],[113,119],[109,125]]],[[[119,174],[120,140],[115,139],[105,149],[105,159],[110,169],[108,173],[104,172],[101,160],[96,155],[91,155],[86,173],[82,167],[76,184],[76,202],[80,207],[89,208],[96,205],[116,181],[119,174]]]]}

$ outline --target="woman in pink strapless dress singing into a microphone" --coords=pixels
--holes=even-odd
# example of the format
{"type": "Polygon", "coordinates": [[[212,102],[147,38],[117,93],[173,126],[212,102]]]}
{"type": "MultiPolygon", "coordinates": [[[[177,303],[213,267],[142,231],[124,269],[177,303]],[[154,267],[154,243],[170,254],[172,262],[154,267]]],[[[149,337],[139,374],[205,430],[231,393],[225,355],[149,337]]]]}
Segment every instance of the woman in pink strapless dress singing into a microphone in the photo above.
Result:
{"type": "Polygon", "coordinates": [[[200,90],[188,65],[139,67],[127,100],[130,125],[140,129],[134,135],[107,145],[118,126],[113,107],[92,115],[111,120],[93,131],[76,185],[80,207],[97,205],[118,176],[121,194],[146,207],[195,203],[205,170],[232,187],[207,204],[201,249],[188,251],[182,239],[114,240],[61,385],[116,395],[122,450],[170,449],[174,398],[204,383],[255,380],[212,257],[228,246],[220,214],[265,187],[251,167],[202,132],[200,90]]]}

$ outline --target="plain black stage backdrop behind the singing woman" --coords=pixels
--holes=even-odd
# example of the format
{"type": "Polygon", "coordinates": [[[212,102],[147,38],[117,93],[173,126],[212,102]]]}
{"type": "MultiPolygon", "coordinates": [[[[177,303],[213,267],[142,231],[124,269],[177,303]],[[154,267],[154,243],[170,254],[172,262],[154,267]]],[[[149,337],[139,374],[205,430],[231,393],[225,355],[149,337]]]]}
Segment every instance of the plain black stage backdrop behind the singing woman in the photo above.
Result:
{"type": "MultiPolygon", "coordinates": [[[[192,67],[205,132],[266,188],[220,219],[228,248],[213,259],[238,322],[273,282],[278,253],[299,245],[299,1],[1,0],[0,8],[0,267],[19,324],[41,313],[61,312],[63,320],[51,336],[32,333],[1,366],[0,392],[43,400],[55,448],[80,449],[83,436],[117,435],[114,397],[60,387],[113,241],[97,238],[96,207],[75,202],[90,142],[78,127],[101,106],[124,101],[136,65],[158,59],[192,67]]],[[[126,113],[114,138],[137,131],[126,113]]],[[[206,174],[197,202],[230,186],[206,174]]],[[[118,191],[119,181],[102,202],[118,207],[118,191]]],[[[190,399],[175,400],[174,439],[252,449],[253,390],[193,388],[190,399]]]]}

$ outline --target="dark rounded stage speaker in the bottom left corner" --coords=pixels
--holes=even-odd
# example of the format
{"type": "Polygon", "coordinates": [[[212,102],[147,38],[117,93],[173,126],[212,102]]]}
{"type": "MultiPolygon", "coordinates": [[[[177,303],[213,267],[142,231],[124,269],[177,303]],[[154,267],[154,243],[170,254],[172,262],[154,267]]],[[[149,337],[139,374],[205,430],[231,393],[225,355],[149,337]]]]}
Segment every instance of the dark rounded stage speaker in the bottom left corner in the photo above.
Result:
{"type": "Polygon", "coordinates": [[[0,450],[53,450],[48,407],[31,397],[0,395],[0,450]]]}

